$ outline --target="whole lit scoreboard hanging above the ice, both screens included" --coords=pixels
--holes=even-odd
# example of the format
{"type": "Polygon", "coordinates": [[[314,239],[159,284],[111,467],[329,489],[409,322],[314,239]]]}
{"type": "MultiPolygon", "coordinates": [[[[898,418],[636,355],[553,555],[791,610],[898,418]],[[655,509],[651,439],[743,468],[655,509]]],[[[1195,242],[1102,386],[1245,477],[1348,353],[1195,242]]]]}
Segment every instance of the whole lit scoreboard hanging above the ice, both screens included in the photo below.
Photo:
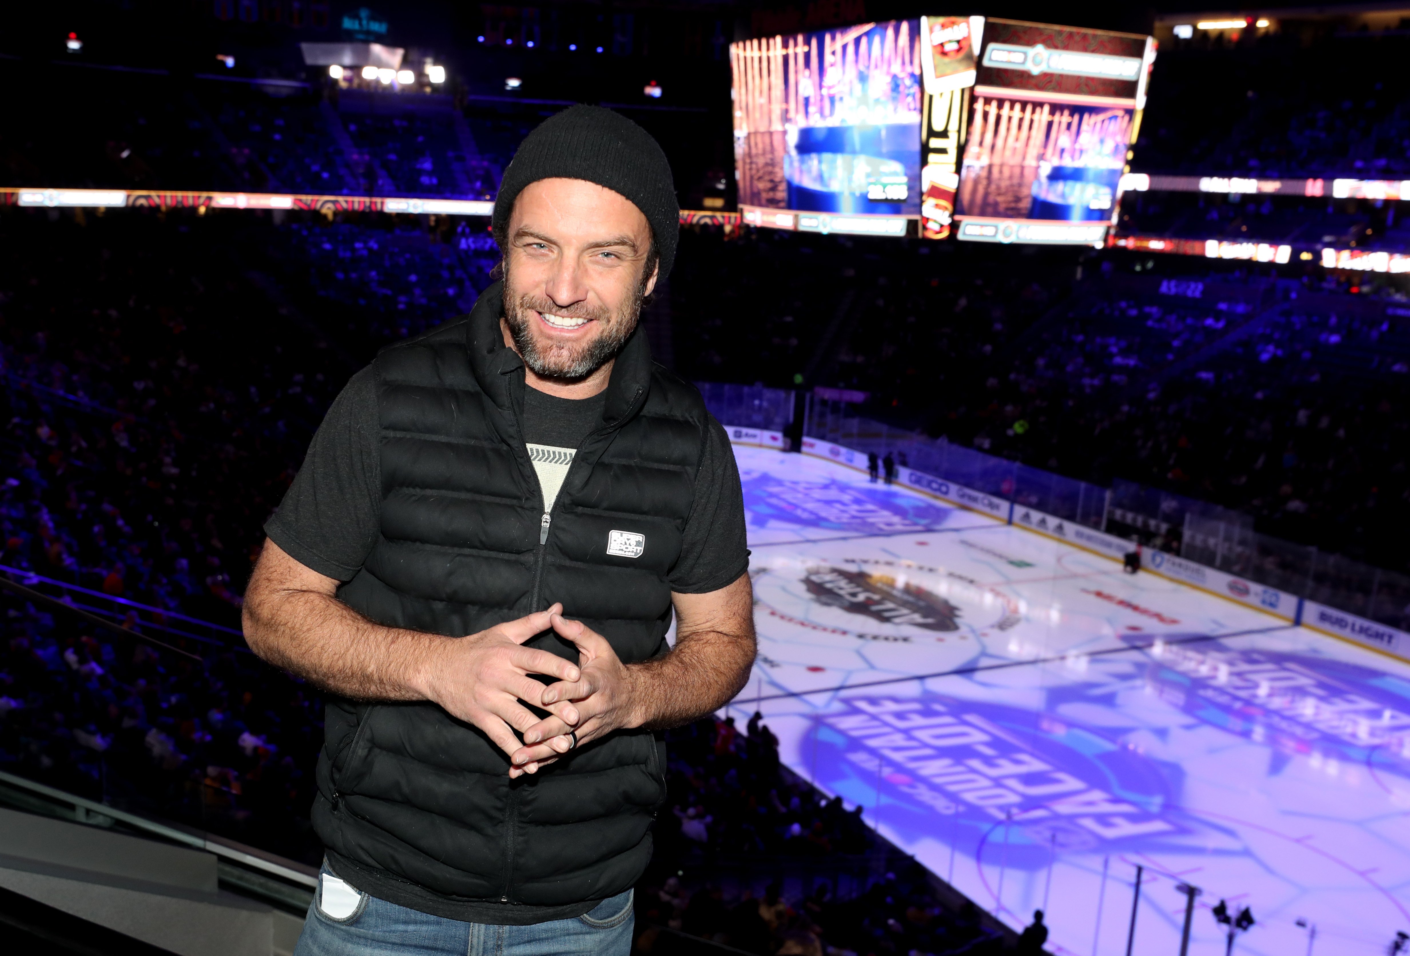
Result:
{"type": "Polygon", "coordinates": [[[1151,37],[921,17],[730,45],[747,224],[1100,244],[1151,37]]]}

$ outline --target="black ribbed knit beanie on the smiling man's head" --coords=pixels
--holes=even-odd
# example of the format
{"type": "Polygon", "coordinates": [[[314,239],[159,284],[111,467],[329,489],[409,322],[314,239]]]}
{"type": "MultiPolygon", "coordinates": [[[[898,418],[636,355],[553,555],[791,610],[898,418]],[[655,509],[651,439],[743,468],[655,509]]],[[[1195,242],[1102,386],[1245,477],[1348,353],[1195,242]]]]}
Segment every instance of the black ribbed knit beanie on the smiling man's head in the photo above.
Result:
{"type": "Polygon", "coordinates": [[[651,134],[620,113],[601,106],[570,106],[525,137],[505,169],[491,224],[496,235],[509,227],[509,213],[523,188],[540,179],[585,179],[630,199],[656,237],[664,279],[675,261],[681,209],[675,202],[671,164],[651,134]]]}

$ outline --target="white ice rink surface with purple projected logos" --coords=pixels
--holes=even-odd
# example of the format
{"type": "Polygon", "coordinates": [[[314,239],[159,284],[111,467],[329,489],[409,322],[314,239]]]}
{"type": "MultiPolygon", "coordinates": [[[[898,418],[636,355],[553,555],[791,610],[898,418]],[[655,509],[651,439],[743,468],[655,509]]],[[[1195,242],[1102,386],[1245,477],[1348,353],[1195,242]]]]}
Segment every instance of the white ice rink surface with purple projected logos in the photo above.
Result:
{"type": "Polygon", "coordinates": [[[1383,953],[1410,928],[1410,664],[736,446],[759,706],[783,759],[1056,953],[1383,953]],[[1304,921],[1308,928],[1299,926],[1304,921]]]}

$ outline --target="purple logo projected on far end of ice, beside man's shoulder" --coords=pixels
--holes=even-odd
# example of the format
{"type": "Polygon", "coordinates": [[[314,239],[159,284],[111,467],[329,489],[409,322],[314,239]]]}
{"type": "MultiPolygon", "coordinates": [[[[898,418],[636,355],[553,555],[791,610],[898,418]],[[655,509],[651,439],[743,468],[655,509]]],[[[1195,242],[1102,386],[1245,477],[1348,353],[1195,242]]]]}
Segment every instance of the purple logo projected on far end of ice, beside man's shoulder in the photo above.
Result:
{"type": "Polygon", "coordinates": [[[898,534],[938,527],[953,512],[919,495],[884,485],[788,481],[767,472],[742,484],[744,508],[756,526],[778,522],[854,534],[898,534]]]}

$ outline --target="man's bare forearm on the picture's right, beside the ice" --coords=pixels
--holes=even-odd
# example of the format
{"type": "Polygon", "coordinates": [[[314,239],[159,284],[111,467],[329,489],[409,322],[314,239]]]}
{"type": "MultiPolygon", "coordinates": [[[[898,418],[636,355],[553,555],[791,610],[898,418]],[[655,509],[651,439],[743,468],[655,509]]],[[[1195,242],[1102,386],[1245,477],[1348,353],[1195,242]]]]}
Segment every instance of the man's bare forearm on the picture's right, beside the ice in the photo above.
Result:
{"type": "Polygon", "coordinates": [[[701,630],[678,637],[668,654],[632,664],[632,723],[664,730],[713,713],[744,687],[756,650],[752,627],[736,635],[701,630]]]}

